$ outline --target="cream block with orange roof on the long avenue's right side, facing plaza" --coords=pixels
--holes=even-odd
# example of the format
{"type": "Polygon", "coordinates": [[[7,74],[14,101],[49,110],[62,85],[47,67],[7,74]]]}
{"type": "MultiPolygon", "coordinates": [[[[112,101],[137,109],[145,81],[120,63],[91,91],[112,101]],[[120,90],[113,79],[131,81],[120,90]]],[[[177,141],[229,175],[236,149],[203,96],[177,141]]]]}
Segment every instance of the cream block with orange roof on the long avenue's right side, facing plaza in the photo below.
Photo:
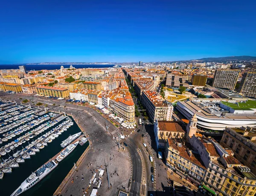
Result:
{"type": "Polygon", "coordinates": [[[165,101],[157,92],[143,91],[141,102],[148,112],[149,119],[154,122],[171,121],[173,106],[172,103],[165,101]]]}

